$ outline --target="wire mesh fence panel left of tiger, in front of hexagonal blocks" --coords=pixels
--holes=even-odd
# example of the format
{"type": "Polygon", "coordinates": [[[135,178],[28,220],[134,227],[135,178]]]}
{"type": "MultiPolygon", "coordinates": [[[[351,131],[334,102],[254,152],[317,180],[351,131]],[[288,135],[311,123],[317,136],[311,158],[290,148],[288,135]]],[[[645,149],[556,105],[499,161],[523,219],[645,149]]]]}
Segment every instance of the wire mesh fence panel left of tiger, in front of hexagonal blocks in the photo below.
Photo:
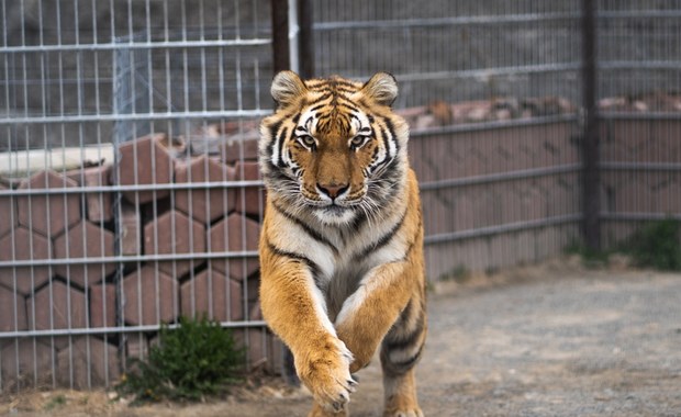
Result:
{"type": "Polygon", "coordinates": [[[115,382],[160,324],[257,305],[267,1],[0,7],[0,392],[115,382]]]}

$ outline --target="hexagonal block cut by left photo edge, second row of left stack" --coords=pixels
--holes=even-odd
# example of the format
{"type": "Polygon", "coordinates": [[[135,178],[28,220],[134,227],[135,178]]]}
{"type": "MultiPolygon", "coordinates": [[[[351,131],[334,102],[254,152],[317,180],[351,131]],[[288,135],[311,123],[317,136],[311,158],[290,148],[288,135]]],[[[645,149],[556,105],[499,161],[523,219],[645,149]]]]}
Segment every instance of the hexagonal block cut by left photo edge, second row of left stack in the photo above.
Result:
{"type": "MultiPolygon", "coordinates": [[[[49,241],[42,235],[19,227],[0,239],[0,260],[44,260],[51,258],[49,241]]],[[[29,295],[33,288],[40,288],[49,280],[49,267],[0,268],[0,284],[29,295]]]]}

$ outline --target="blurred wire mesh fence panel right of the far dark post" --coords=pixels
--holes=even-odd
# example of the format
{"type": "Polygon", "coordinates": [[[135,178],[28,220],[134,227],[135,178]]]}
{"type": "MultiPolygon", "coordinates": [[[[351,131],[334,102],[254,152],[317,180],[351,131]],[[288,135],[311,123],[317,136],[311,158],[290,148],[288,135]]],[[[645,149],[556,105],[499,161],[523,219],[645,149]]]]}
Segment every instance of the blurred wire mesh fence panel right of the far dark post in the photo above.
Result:
{"type": "Polygon", "coordinates": [[[681,2],[599,1],[603,239],[681,213],[681,2]]]}

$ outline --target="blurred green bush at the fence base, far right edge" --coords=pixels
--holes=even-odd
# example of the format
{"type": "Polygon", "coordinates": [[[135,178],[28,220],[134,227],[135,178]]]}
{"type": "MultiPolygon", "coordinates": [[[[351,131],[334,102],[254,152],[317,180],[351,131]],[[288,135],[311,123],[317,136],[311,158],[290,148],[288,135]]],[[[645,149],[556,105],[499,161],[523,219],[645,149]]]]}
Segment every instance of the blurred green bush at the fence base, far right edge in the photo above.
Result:
{"type": "Polygon", "coordinates": [[[639,267],[666,271],[681,270],[681,223],[673,218],[650,222],[636,232],[625,250],[639,267]]]}

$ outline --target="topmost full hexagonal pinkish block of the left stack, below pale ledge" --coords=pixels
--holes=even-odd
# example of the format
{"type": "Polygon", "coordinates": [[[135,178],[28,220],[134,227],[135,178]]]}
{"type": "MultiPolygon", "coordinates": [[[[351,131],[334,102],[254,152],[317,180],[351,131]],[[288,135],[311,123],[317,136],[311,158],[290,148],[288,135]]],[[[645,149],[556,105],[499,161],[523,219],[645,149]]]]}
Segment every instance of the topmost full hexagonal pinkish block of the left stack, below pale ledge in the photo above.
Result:
{"type": "MultiPolygon", "coordinates": [[[[76,181],[53,171],[41,171],[22,181],[20,190],[65,189],[76,181]]],[[[47,237],[55,237],[80,219],[80,195],[36,194],[16,198],[19,223],[47,237]]]]}

